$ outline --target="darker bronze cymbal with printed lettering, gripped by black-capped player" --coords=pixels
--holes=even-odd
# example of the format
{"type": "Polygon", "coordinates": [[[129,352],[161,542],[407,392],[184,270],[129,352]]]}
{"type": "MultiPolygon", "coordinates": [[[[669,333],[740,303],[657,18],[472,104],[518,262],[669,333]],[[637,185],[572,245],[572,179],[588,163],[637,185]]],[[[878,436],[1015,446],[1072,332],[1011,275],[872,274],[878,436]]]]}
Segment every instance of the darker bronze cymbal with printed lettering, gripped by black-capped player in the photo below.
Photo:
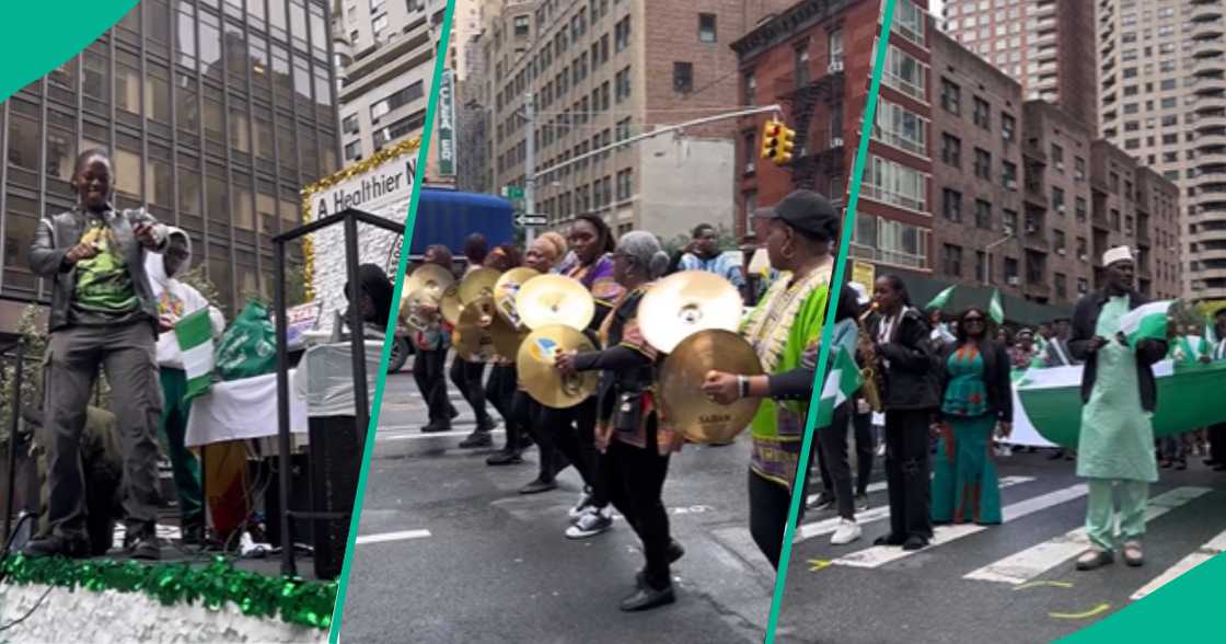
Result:
{"type": "Polygon", "coordinates": [[[702,394],[706,374],[716,370],[738,375],[761,375],[763,367],[753,346],[739,335],[722,329],[699,331],[664,358],[660,369],[660,406],[666,422],[691,443],[727,443],[753,421],[761,401],[738,400],[720,405],[702,394]]]}

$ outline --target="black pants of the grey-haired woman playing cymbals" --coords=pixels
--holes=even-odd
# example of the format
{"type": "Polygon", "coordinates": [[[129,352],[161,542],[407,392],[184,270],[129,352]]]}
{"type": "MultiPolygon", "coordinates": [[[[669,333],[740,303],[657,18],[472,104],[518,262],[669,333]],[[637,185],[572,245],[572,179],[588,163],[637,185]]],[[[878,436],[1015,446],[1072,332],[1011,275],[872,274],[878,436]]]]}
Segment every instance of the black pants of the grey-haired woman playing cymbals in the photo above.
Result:
{"type": "Polygon", "coordinates": [[[647,448],[640,449],[614,439],[606,455],[606,470],[613,507],[642,541],[642,554],[647,561],[644,572],[646,584],[656,590],[668,588],[672,583],[668,572],[668,543],[672,537],[668,535],[668,512],[661,498],[668,476],[668,456],[660,455],[655,440],[649,440],[647,448]]]}

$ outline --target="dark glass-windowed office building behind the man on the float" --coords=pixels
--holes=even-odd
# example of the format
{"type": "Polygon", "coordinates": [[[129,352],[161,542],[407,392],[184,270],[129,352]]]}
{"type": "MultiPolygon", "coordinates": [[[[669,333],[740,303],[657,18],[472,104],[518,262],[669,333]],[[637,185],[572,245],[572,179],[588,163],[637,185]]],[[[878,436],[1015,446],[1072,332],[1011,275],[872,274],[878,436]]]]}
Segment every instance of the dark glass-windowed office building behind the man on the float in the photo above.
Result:
{"type": "MultiPolygon", "coordinates": [[[[181,227],[233,314],[267,294],[272,236],[338,167],[322,0],[143,0],[0,107],[0,298],[45,301],[28,269],[39,217],[70,210],[77,153],[112,155],[116,207],[181,227]]],[[[291,260],[300,253],[291,249],[291,260]]]]}

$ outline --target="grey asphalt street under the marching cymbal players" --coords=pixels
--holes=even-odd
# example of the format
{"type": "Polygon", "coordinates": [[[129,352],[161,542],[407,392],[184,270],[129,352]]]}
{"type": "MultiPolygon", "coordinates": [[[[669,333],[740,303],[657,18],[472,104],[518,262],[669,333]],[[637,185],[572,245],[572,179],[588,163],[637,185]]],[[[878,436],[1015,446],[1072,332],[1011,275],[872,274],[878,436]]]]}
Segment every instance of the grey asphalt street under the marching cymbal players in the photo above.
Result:
{"type": "Polygon", "coordinates": [[[425,408],[408,375],[387,379],[384,401],[343,640],[763,640],[775,575],[748,530],[748,435],[673,456],[664,503],[687,550],[673,568],[678,601],[628,615],[617,605],[641,565],[638,539],[622,520],[588,540],[563,536],[580,491],[574,470],[558,491],[520,496],[535,450],[522,465],[489,467],[489,450],[459,449],[472,428],[460,400],[452,434],[421,434],[425,408]]]}

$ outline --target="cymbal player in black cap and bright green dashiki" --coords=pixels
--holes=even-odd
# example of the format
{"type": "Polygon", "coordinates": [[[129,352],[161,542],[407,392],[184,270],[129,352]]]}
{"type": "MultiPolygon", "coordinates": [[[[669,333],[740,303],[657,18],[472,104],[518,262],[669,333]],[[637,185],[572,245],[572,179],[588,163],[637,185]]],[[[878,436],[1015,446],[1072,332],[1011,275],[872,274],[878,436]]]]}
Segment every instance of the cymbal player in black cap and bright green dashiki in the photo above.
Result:
{"type": "MultiPolygon", "coordinates": [[[[830,291],[832,242],[839,237],[839,215],[826,197],[797,190],[766,216],[766,254],[781,272],[745,320],[742,334],[754,346],[770,375],[802,366],[802,357],[821,334],[830,291]]],[[[810,380],[812,383],[812,380],[810,380]]],[[[810,385],[812,388],[812,385],[810,385]]],[[[770,378],[712,373],[702,389],[720,402],[771,395],[770,378]]],[[[749,469],[749,531],[779,568],[783,530],[804,438],[809,393],[790,391],[765,400],[754,417],[749,469]]]]}

